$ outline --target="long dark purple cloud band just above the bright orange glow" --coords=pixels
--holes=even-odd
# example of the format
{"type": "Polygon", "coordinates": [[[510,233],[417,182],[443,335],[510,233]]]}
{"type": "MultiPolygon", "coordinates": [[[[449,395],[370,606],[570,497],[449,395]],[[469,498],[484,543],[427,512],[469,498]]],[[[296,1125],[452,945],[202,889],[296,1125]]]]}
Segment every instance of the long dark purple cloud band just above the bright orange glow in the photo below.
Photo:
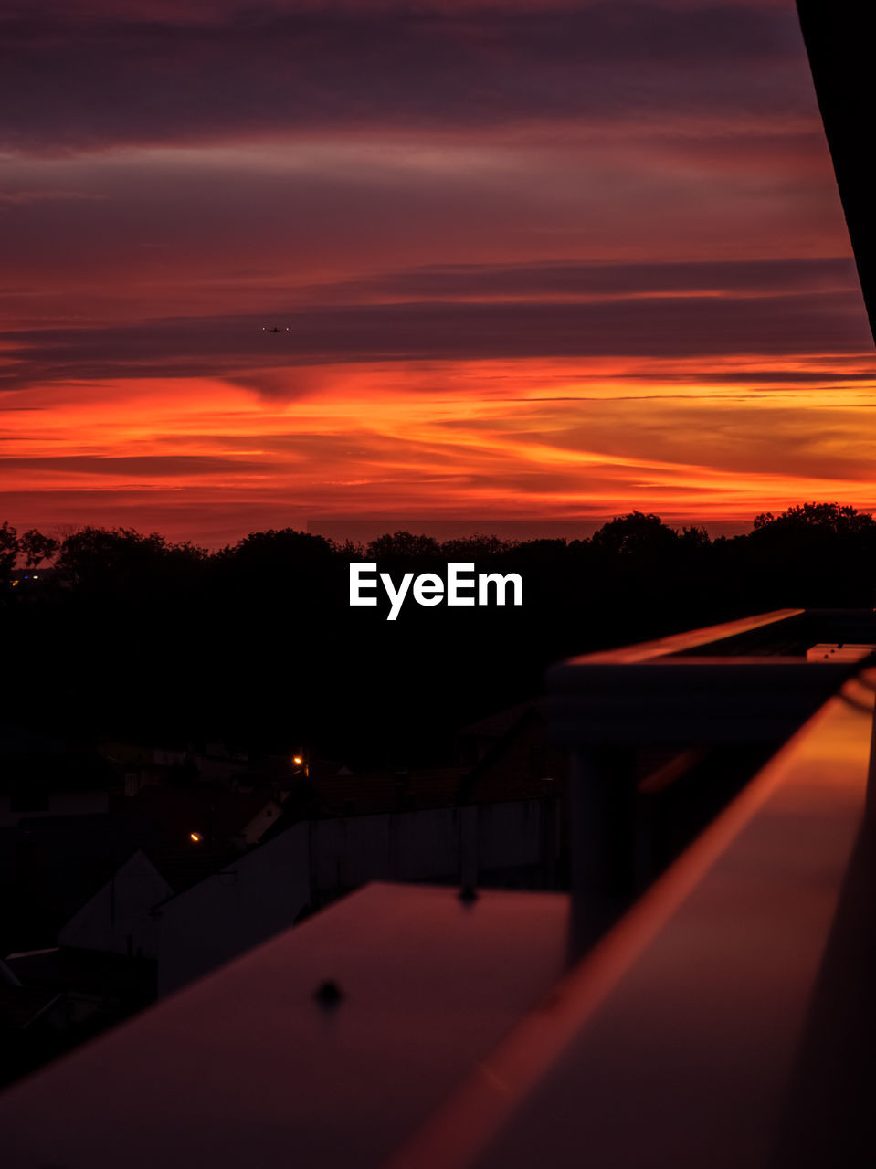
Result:
{"type": "MultiPolygon", "coordinates": [[[[765,296],[642,296],[586,302],[413,302],[295,309],[263,318],[165,320],[8,334],[0,388],[136,376],[225,376],[350,361],[869,352],[857,290],[765,296]]],[[[253,379],[269,396],[282,378],[253,379]]],[[[304,383],[306,387],[306,382],[304,383]]]]}

